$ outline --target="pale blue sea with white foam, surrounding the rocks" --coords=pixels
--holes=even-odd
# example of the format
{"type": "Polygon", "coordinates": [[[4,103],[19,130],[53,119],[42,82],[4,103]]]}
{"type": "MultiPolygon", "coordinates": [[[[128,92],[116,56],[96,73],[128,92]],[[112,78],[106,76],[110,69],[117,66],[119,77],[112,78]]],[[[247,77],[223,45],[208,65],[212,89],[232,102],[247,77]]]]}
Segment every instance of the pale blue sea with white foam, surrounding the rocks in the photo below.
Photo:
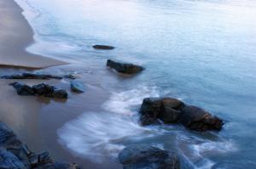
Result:
{"type": "MultiPolygon", "coordinates": [[[[102,112],[63,124],[60,144],[101,164],[126,144],[176,151],[183,168],[256,168],[256,2],[149,0],[17,0],[36,33],[29,51],[99,72],[111,93],[102,112]],[[95,51],[108,44],[113,51],[95,51]],[[106,59],[143,65],[130,78],[106,59]],[[222,132],[179,126],[140,127],[144,97],[170,96],[210,110],[222,132]],[[83,147],[83,149],[81,149],[83,147]]],[[[108,166],[102,166],[108,168],[108,166]]]]}

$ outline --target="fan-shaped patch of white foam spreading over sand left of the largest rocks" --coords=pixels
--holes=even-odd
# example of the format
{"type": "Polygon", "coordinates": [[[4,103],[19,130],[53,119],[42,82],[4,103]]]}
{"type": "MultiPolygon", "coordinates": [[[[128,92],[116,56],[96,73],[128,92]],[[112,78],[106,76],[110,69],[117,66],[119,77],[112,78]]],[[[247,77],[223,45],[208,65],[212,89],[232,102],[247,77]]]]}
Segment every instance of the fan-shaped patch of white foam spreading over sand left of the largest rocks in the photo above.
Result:
{"type": "Polygon", "coordinates": [[[117,156],[129,138],[153,136],[150,128],[140,127],[129,116],[107,112],[90,112],[67,122],[58,130],[61,144],[74,153],[102,161],[117,156]]]}

